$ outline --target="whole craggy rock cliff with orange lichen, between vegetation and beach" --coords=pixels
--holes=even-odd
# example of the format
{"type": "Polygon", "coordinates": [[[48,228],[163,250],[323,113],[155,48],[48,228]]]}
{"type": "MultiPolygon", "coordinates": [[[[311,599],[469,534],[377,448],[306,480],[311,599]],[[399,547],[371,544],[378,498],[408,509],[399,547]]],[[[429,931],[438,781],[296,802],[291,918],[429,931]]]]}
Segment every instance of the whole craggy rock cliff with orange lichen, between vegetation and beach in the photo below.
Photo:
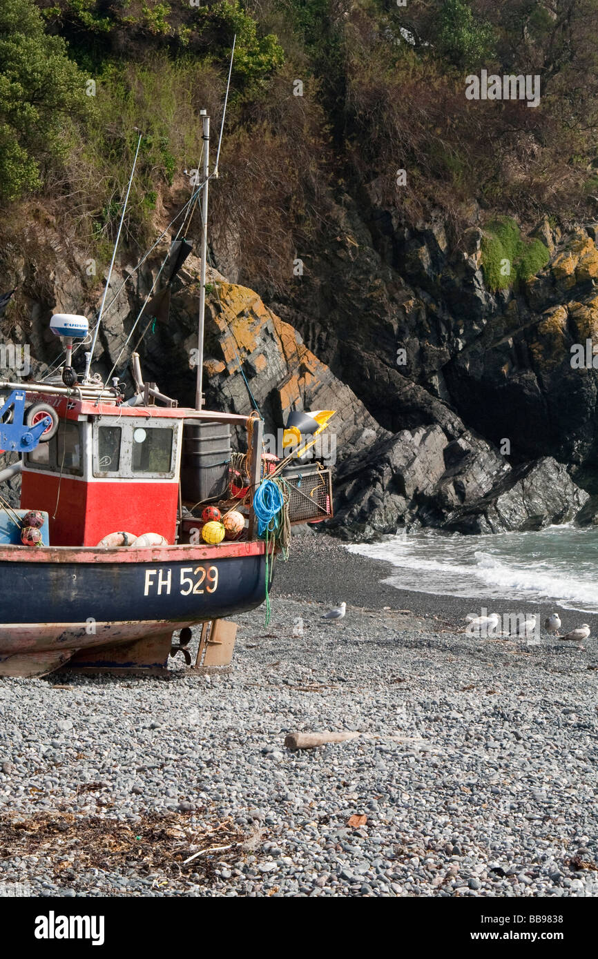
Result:
{"type": "MultiPolygon", "coordinates": [[[[548,265],[493,293],[481,269],[481,229],[451,249],[440,222],[408,231],[393,226],[390,212],[368,214],[347,199],[329,246],[297,290],[271,306],[209,272],[207,404],[257,407],[273,436],[290,409],[337,409],[328,448],[333,526],[350,536],[403,525],[496,532],[573,519],[598,491],[597,372],[591,352],[589,368],[572,363],[576,344],[586,351],[598,336],[594,227],[561,238],[540,224],[548,265]]],[[[33,372],[59,352],[47,329],[52,312],[90,312],[101,291],[77,268],[81,258],[50,239],[54,263],[43,287],[32,282],[26,253],[14,261],[33,372]]],[[[106,315],[97,368],[107,375],[115,367],[130,383],[128,358],[145,329],[146,378],[189,403],[196,257],[175,281],[169,323],[144,320],[132,333],[159,253],[134,276],[126,262],[113,274],[108,302],[132,279],[106,315]]],[[[582,516],[590,515],[586,507],[582,516]]]]}

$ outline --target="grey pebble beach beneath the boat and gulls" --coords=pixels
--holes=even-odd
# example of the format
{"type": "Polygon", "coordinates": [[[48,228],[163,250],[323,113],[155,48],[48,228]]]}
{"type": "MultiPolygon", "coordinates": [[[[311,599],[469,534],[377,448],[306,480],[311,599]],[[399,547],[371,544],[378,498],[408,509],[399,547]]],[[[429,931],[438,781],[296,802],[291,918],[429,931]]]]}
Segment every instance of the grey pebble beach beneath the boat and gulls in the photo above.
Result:
{"type": "Polygon", "coordinates": [[[596,618],[476,639],[387,575],[294,537],[229,672],[0,680],[0,895],[598,895],[596,618]]]}

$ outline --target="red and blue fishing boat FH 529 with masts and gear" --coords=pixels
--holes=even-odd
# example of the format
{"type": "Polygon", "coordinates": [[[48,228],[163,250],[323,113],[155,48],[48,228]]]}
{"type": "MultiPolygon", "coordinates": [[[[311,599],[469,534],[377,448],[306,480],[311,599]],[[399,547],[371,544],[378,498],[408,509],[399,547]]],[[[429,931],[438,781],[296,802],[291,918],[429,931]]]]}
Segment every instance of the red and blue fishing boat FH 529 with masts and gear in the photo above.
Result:
{"type": "MultiPolygon", "coordinates": [[[[156,673],[178,652],[189,663],[192,626],[254,609],[267,598],[283,512],[287,522],[331,515],[329,478],[312,468],[307,495],[309,476],[287,481],[299,497],[295,514],[283,498],[278,515],[272,522],[267,515],[264,526],[264,497],[258,493],[273,482],[278,464],[263,453],[261,418],[203,407],[210,179],[204,111],[202,120],[195,408],[179,407],[145,383],[136,352],[129,398],[117,380],[108,386],[91,371],[109,272],[83,376],[73,369],[72,354],[74,341],[88,342],[87,320],[59,314],[51,328],[65,344],[61,368],[35,383],[0,383],[0,447],[21,457],[0,474],[1,483],[21,473],[20,507],[0,497],[1,676],[41,676],[59,667],[156,673]],[[235,429],[246,433],[246,451],[233,455],[235,429]],[[216,517],[204,524],[217,527],[213,542],[204,534],[206,503],[208,515],[216,517]],[[219,522],[223,512],[225,520],[235,514],[228,528],[219,522]]],[[[125,209],[126,200],[121,226],[125,209]]],[[[119,236],[120,228],[110,271],[119,236]]],[[[155,297],[161,303],[190,246],[184,243],[177,240],[170,248],[169,281],[155,297]]],[[[144,316],[153,309],[150,304],[144,316]]],[[[320,421],[310,422],[312,433],[322,428],[320,421]]]]}

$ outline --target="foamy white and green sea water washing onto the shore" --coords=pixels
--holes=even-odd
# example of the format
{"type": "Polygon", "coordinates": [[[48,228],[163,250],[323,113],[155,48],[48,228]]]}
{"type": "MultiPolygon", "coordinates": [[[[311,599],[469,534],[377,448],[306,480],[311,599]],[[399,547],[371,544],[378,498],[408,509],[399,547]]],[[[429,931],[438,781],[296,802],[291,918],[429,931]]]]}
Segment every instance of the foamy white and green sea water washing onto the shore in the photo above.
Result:
{"type": "Polygon", "coordinates": [[[351,552],[385,559],[384,581],[442,596],[553,600],[598,613],[598,529],[549,526],[540,532],[465,536],[425,530],[357,544],[351,552]]]}

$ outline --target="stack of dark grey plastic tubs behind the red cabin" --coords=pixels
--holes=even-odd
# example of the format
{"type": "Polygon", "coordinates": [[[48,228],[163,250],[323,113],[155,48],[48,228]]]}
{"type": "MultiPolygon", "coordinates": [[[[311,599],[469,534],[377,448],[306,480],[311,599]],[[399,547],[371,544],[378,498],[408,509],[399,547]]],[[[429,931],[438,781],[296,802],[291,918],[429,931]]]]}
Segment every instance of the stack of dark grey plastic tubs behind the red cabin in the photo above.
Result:
{"type": "Polygon", "coordinates": [[[231,455],[229,424],[184,420],[181,498],[187,503],[226,499],[231,455]]]}

